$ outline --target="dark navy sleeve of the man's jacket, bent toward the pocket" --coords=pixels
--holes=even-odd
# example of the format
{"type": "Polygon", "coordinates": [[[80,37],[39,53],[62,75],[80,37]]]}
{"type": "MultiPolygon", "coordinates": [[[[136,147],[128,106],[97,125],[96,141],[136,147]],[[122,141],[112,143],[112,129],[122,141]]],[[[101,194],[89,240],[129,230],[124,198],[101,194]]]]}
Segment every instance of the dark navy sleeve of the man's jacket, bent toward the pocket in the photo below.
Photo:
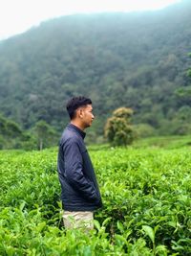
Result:
{"type": "Polygon", "coordinates": [[[84,198],[97,199],[94,183],[83,175],[83,159],[79,145],[71,140],[64,147],[65,176],[70,183],[84,198]]]}

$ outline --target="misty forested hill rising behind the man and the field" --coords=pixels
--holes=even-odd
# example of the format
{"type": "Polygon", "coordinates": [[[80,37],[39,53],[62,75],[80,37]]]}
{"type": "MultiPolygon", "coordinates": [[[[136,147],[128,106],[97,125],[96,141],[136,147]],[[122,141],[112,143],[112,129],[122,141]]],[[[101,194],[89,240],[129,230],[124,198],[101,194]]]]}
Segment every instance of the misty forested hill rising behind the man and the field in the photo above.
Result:
{"type": "Polygon", "coordinates": [[[187,132],[190,17],[184,0],[156,12],[63,16],[1,41],[0,112],[22,128],[45,120],[61,130],[66,101],[80,94],[93,99],[99,133],[122,105],[160,134],[187,132]]]}

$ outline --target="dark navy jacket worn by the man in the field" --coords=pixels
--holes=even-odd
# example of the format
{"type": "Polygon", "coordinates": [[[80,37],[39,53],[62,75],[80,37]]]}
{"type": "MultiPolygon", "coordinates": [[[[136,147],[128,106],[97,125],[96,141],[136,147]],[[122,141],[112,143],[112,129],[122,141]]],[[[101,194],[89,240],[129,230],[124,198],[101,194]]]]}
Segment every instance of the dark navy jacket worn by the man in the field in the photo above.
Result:
{"type": "Polygon", "coordinates": [[[70,124],[59,144],[57,170],[66,211],[94,211],[102,206],[95,171],[83,141],[85,134],[70,124]]]}

